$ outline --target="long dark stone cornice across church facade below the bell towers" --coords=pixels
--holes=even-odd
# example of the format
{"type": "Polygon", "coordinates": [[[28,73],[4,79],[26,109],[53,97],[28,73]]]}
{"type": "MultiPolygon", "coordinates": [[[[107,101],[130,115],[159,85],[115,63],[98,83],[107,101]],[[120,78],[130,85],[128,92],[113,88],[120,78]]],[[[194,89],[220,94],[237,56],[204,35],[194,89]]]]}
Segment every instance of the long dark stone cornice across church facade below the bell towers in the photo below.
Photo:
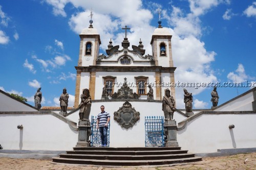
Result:
{"type": "Polygon", "coordinates": [[[99,66],[90,65],[88,67],[75,66],[79,72],[105,71],[105,72],[169,72],[173,73],[176,67],[162,66],[99,66]]]}

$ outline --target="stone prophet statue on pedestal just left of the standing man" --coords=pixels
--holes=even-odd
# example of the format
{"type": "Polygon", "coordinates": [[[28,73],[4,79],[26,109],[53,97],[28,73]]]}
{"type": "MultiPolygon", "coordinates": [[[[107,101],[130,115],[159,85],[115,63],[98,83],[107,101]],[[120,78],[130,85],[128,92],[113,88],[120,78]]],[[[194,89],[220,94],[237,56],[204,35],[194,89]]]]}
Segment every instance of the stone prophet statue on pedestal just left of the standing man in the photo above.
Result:
{"type": "Polygon", "coordinates": [[[90,91],[86,88],[82,90],[81,94],[81,103],[79,104],[79,119],[89,119],[89,115],[91,112],[92,106],[92,98],[90,95],[90,91]]]}

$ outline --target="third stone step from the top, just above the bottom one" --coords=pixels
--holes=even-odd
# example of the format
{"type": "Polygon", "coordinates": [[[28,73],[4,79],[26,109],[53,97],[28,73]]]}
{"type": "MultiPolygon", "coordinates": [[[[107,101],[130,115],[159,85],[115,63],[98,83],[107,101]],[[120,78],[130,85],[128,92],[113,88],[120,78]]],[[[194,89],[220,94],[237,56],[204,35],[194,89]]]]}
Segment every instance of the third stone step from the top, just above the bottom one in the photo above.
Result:
{"type": "Polygon", "coordinates": [[[97,160],[160,160],[160,159],[180,159],[195,157],[195,154],[169,154],[169,155],[80,155],[80,154],[60,154],[60,158],[71,159],[97,159],[97,160]]]}

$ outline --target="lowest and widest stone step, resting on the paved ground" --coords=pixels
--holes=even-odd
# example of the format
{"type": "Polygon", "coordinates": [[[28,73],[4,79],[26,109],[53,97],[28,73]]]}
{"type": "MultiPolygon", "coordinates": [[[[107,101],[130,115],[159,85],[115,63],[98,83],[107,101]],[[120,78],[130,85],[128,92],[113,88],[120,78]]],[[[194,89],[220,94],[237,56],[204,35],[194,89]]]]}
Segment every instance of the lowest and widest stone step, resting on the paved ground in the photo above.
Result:
{"type": "Polygon", "coordinates": [[[141,165],[166,165],[186,162],[201,161],[202,157],[180,158],[180,159],[159,159],[159,160],[98,160],[98,159],[70,159],[52,158],[53,162],[101,165],[101,166],[141,166],[141,165]]]}

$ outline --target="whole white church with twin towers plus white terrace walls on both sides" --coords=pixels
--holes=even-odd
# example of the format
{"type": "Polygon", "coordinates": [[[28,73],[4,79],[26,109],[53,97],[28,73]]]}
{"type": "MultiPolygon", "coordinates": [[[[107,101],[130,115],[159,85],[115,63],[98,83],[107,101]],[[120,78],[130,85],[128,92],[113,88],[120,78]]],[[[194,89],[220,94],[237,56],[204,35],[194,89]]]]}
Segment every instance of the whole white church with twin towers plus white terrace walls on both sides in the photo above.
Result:
{"type": "MultiPolygon", "coordinates": [[[[90,25],[80,33],[75,109],[69,110],[67,116],[56,110],[37,111],[0,90],[0,144],[4,148],[0,157],[49,158],[72,150],[78,140],[80,95],[86,88],[92,99],[90,117],[99,113],[101,105],[111,114],[109,146],[145,147],[145,117],[164,115],[162,99],[166,87],[158,83],[175,82],[172,57],[175,42],[168,29],[159,25],[151,42],[146,42],[152,45],[152,55],[145,55],[141,40],[138,38],[138,45],[130,45],[126,37],[129,28],[123,29],[122,43],[114,46],[110,40],[106,55],[99,54],[101,40],[96,28],[90,25]],[[124,84],[131,93],[120,98],[124,84]],[[148,85],[153,89],[151,99],[148,85]],[[103,87],[107,94],[102,95],[103,87]],[[137,122],[130,128],[121,127],[114,119],[114,113],[126,100],[139,112],[137,122]],[[23,128],[18,129],[18,125],[23,128]]],[[[175,99],[175,87],[169,90],[175,99]]],[[[180,110],[174,113],[177,141],[183,150],[200,156],[256,151],[255,87],[214,110],[194,113],[189,117],[180,110]]]]}

